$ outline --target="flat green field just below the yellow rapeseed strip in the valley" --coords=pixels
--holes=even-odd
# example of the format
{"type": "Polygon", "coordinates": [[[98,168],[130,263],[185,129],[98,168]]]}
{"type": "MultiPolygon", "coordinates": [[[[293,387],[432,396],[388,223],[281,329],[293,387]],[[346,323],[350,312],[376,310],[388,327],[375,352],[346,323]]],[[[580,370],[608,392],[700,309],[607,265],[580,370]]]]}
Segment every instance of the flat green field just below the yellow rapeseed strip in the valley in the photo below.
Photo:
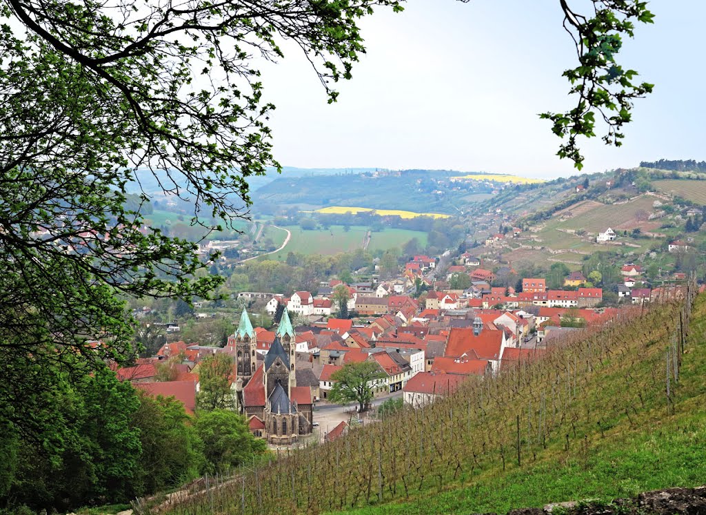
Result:
{"type": "MultiPolygon", "coordinates": [[[[302,230],[298,226],[287,226],[292,231],[292,239],[287,247],[271,254],[268,259],[283,261],[287,253],[300,254],[338,254],[339,252],[354,251],[363,247],[364,238],[369,227],[352,225],[346,232],[342,225],[332,225],[328,230],[302,230]]],[[[285,232],[275,227],[266,227],[265,236],[272,237],[279,246],[285,239],[285,232]]],[[[401,247],[410,239],[419,239],[421,247],[426,246],[426,232],[410,231],[404,229],[385,229],[381,232],[372,232],[368,247],[369,251],[387,250],[401,247]]]]}

